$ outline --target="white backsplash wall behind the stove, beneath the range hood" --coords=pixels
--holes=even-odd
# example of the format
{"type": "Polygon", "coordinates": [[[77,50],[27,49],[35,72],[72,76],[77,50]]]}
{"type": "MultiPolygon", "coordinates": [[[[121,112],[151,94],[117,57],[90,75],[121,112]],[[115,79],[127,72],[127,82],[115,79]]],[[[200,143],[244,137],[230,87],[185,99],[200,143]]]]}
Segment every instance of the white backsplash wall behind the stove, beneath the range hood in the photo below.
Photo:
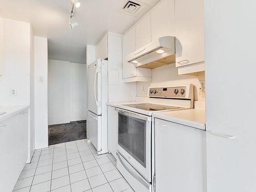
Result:
{"type": "Polygon", "coordinates": [[[194,84],[195,100],[205,101],[205,92],[199,90],[201,83],[199,80],[204,80],[204,72],[198,73],[198,76],[178,75],[178,68],[174,64],[155,68],[152,70],[152,82],[137,82],[137,96],[147,96],[148,87],[154,86],[172,86],[177,84],[194,84]]]}

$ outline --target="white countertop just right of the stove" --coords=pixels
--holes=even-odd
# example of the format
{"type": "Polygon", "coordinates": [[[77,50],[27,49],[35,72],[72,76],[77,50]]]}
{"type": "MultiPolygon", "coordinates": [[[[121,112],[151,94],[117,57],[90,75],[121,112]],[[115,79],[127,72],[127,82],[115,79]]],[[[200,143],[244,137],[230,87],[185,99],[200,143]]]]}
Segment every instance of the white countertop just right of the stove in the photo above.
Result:
{"type": "Polygon", "coordinates": [[[205,130],[205,110],[189,109],[154,113],[153,117],[205,130]]]}

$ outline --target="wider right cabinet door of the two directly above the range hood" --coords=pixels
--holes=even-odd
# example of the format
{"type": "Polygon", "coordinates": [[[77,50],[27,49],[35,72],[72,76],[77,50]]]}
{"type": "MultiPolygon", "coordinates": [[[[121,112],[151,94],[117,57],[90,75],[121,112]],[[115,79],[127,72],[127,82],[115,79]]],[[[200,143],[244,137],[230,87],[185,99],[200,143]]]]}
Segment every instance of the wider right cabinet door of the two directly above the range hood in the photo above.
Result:
{"type": "Polygon", "coordinates": [[[151,12],[152,41],[175,36],[175,0],[161,1],[151,12]]]}

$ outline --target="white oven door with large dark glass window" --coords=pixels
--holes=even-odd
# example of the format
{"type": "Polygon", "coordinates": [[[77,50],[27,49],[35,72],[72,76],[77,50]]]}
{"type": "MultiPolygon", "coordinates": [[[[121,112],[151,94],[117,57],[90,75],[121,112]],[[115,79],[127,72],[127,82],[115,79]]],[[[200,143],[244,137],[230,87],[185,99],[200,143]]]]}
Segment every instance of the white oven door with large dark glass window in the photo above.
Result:
{"type": "Polygon", "coordinates": [[[152,117],[118,110],[118,152],[151,182],[152,117]]]}

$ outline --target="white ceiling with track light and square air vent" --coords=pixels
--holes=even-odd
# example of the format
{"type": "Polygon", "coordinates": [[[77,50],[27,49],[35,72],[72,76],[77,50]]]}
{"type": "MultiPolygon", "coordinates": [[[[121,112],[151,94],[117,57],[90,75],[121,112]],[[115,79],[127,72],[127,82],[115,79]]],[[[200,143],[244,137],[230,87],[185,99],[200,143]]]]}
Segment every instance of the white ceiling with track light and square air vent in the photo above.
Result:
{"type": "Polygon", "coordinates": [[[144,3],[136,15],[122,12],[128,0],[80,1],[74,29],[68,25],[70,0],[0,0],[0,16],[31,23],[35,36],[48,38],[49,58],[84,63],[86,45],[96,45],[108,31],[123,34],[160,0],[134,0],[144,3]]]}

